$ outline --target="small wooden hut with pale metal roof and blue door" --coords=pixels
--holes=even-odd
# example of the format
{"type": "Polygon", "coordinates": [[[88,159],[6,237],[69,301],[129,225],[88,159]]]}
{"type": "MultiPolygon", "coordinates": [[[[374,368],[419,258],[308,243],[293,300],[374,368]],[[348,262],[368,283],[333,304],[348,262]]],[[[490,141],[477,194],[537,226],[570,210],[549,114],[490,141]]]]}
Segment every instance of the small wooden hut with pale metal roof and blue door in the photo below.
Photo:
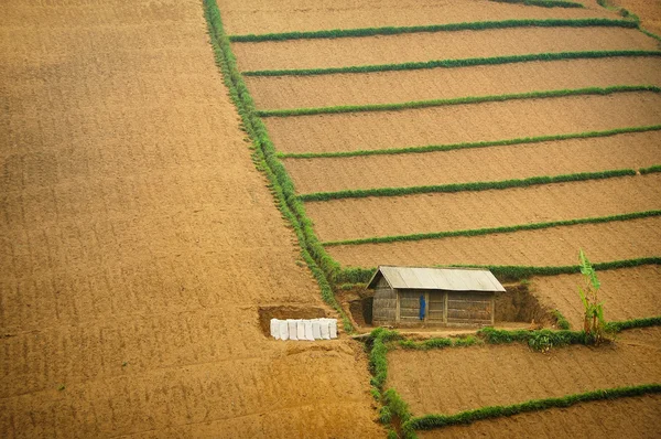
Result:
{"type": "Polygon", "coordinates": [[[375,290],[376,325],[494,324],[495,293],[505,288],[486,269],[379,266],[368,283],[375,290]]]}

